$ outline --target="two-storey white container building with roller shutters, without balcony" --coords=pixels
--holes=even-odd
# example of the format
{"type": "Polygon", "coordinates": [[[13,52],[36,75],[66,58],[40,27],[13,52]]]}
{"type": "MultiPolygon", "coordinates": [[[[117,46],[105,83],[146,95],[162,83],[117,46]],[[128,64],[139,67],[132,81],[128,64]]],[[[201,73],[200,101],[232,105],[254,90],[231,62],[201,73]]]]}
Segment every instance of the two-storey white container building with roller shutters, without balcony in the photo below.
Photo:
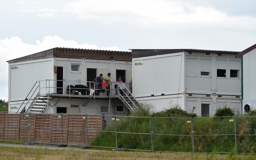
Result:
{"type": "Polygon", "coordinates": [[[157,110],[168,103],[201,116],[224,106],[241,111],[238,52],[198,49],[132,49],[132,93],[157,110]]]}

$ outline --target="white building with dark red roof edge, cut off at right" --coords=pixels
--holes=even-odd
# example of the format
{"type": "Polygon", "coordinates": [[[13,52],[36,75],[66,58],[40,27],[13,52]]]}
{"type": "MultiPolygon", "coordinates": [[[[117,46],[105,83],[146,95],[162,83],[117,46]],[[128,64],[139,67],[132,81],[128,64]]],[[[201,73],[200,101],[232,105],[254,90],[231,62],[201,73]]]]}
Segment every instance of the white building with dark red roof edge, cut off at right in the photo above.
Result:
{"type": "Polygon", "coordinates": [[[256,44],[239,52],[236,57],[242,62],[243,112],[250,112],[256,108],[256,44]]]}

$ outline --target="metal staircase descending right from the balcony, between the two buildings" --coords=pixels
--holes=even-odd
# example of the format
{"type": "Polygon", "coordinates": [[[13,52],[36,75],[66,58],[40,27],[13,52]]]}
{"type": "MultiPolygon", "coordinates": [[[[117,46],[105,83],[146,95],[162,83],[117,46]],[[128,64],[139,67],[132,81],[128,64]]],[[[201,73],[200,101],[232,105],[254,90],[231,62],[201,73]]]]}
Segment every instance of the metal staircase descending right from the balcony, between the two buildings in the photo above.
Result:
{"type": "Polygon", "coordinates": [[[141,106],[140,102],[133,96],[133,94],[129,91],[129,89],[122,83],[122,82],[119,82],[120,85],[122,84],[125,88],[122,89],[119,85],[118,85],[118,96],[119,96],[119,99],[126,105],[126,107],[130,110],[130,111],[133,111],[135,108],[138,108],[138,106],[141,106]],[[123,91],[123,94],[122,95],[119,91],[123,91]],[[129,95],[128,96],[125,91],[128,91],[129,92],[129,95]]]}

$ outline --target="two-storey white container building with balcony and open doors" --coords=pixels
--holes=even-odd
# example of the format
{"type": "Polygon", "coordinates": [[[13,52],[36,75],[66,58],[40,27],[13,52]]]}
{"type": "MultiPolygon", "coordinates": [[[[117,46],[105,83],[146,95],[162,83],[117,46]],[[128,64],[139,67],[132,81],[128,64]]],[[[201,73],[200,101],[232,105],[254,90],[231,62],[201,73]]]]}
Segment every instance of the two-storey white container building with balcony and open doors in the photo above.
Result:
{"type": "Polygon", "coordinates": [[[132,78],[131,52],[57,47],[7,62],[10,112],[127,113],[127,105],[115,94],[114,83],[110,96],[106,92],[100,96],[89,92],[95,89],[94,79],[100,74],[105,78],[108,73],[113,82],[121,75],[124,90],[129,92],[126,83],[132,78]],[[87,89],[76,88],[84,93],[72,95],[71,87],[76,85],[87,89]]]}

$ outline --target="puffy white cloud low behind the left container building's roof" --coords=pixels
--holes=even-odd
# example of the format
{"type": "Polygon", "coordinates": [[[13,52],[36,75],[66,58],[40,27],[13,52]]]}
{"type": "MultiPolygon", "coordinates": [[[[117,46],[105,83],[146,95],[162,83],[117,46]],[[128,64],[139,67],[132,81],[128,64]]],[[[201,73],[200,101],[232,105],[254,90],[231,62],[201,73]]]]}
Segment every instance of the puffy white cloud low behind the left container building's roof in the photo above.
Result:
{"type": "Polygon", "coordinates": [[[95,44],[78,44],[76,41],[64,40],[56,35],[45,36],[42,42],[37,40],[35,45],[24,43],[17,36],[0,39],[0,75],[5,77],[0,80],[0,99],[8,100],[8,63],[6,61],[55,47],[121,51],[116,46],[98,47],[95,44]]]}

